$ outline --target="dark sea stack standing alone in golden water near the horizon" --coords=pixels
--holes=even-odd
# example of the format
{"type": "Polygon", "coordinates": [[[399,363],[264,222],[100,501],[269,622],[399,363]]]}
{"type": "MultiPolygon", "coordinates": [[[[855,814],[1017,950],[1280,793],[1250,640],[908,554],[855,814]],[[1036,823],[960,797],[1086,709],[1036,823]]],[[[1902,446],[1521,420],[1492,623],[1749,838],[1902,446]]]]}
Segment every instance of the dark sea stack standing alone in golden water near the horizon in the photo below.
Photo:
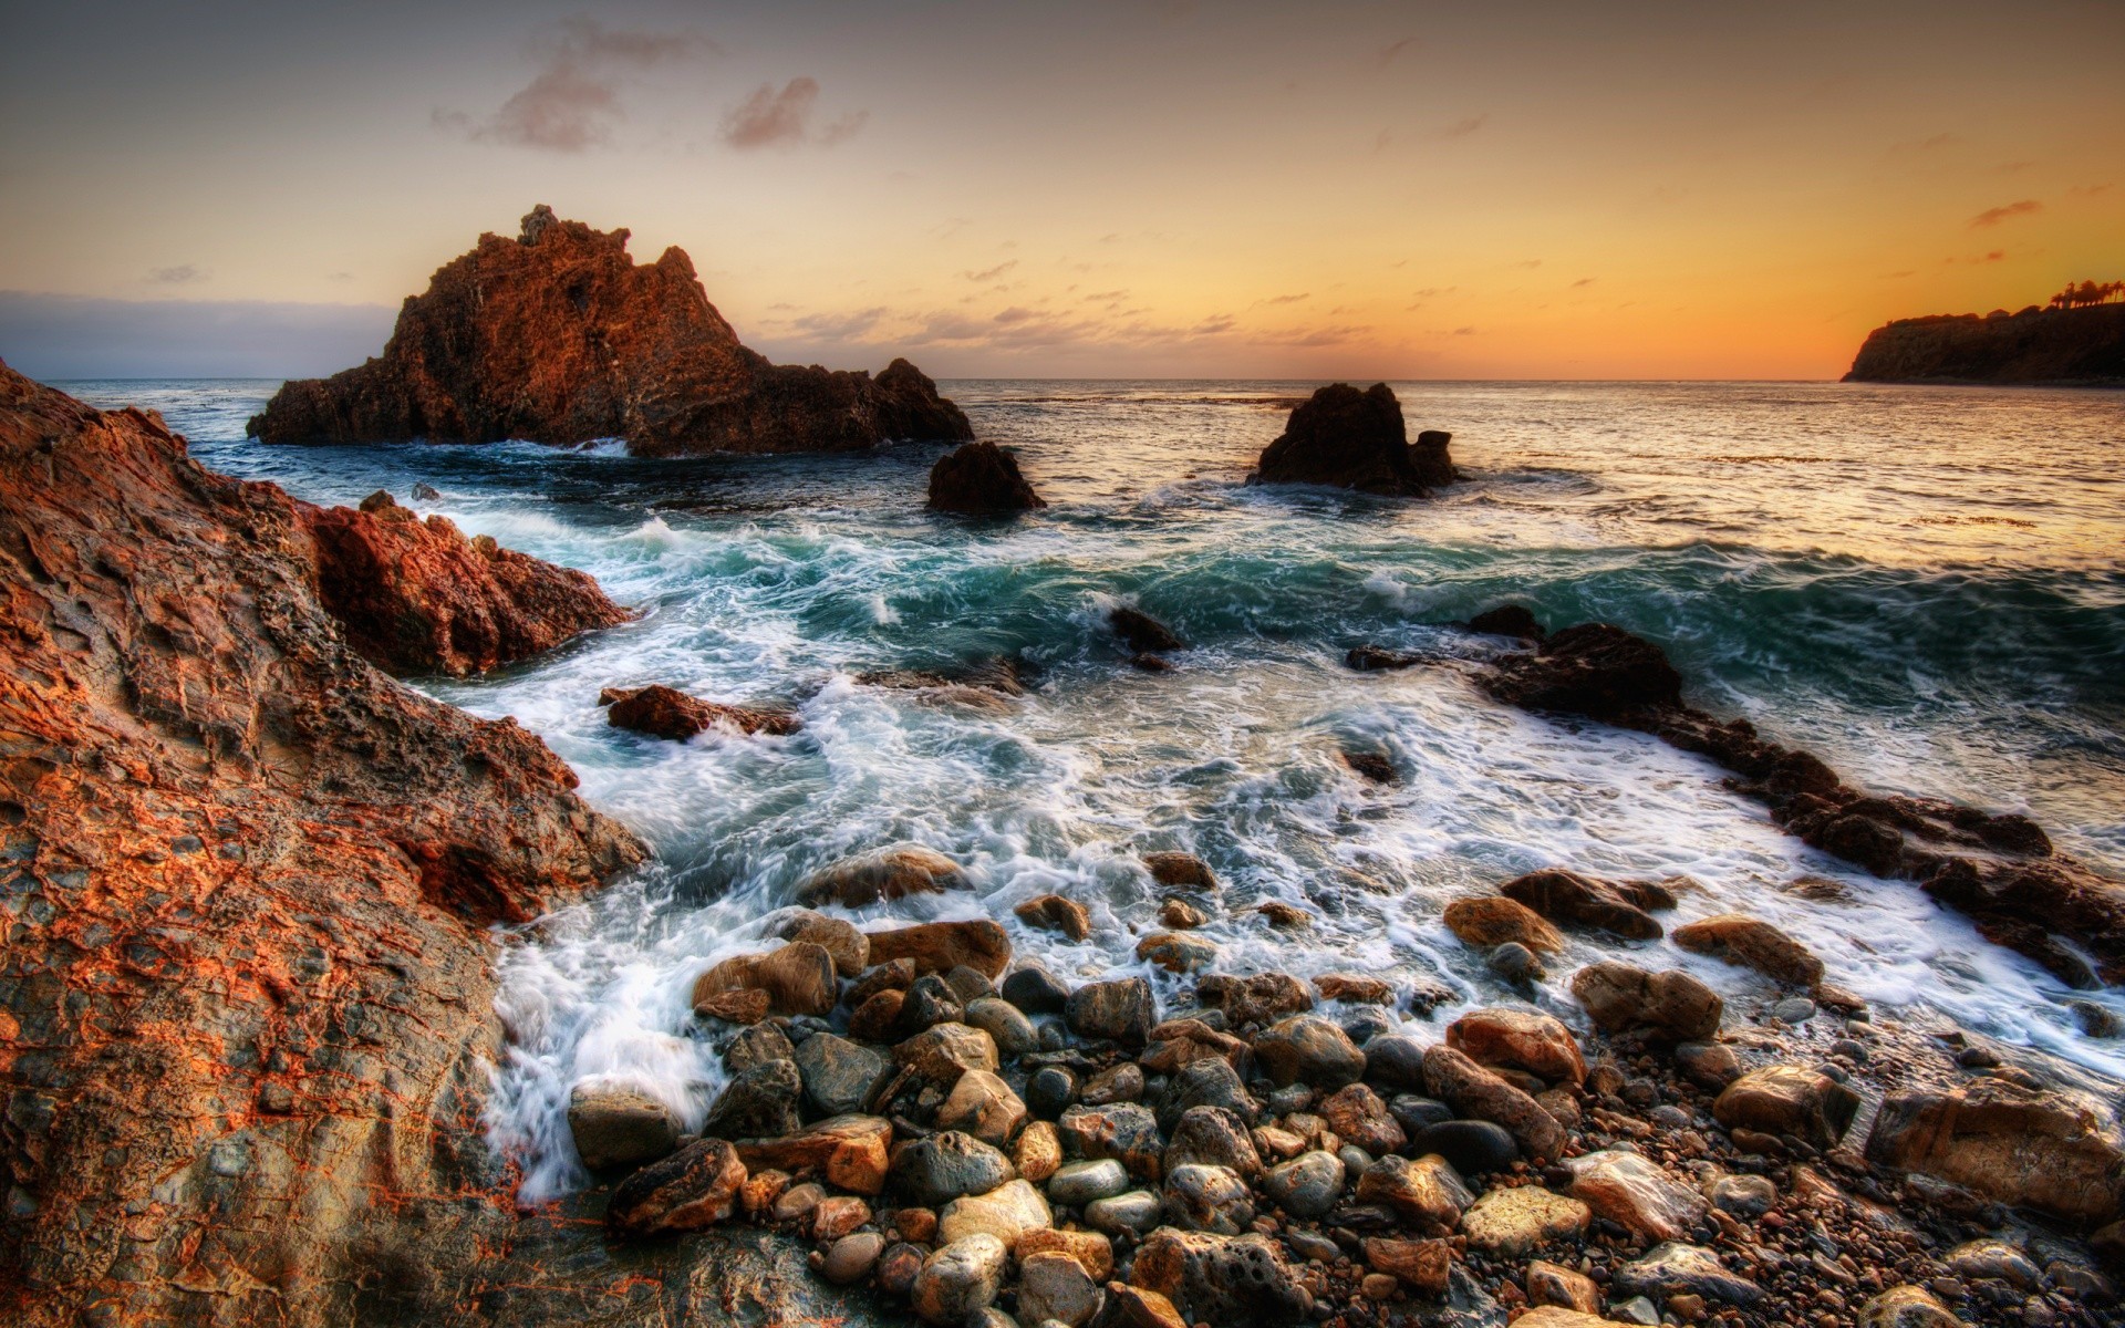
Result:
{"type": "Polygon", "coordinates": [[[1411,444],[1402,404],[1386,382],[1364,391],[1330,382],[1292,410],[1284,433],[1262,448],[1252,480],[1426,497],[1460,478],[1447,457],[1451,438],[1426,429],[1411,444]]]}

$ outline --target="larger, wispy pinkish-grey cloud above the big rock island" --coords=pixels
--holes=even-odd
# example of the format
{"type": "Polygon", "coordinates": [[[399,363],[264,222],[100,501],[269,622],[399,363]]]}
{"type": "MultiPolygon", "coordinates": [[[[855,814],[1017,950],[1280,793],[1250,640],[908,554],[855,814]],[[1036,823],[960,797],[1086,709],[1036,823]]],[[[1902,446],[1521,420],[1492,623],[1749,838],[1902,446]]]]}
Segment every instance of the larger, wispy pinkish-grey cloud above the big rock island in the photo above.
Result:
{"type": "Polygon", "coordinates": [[[536,49],[540,72],[499,110],[476,119],[438,106],[429,123],[472,142],[580,153],[610,142],[612,127],[627,119],[620,106],[625,74],[720,51],[693,32],[625,32],[595,19],[567,19],[557,38],[536,49]]]}

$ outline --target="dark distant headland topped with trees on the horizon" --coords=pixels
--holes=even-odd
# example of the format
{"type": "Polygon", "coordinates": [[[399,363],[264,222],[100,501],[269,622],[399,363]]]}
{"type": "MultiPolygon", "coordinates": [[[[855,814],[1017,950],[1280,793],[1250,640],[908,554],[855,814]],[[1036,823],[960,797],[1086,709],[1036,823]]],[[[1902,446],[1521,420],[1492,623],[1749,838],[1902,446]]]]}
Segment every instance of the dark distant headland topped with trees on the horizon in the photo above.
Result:
{"type": "Polygon", "coordinates": [[[1900,319],[1868,334],[1844,380],[2125,387],[2125,304],[1900,319]]]}

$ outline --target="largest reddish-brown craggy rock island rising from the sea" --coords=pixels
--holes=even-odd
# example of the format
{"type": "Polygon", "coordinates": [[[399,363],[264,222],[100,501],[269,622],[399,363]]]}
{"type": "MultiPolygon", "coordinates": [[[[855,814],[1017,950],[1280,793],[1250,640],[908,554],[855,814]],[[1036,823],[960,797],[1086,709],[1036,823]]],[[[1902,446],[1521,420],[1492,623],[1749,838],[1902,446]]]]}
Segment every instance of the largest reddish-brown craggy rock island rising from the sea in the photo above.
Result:
{"type": "Polygon", "coordinates": [[[625,438],[674,453],[854,450],[973,438],[905,359],[882,374],[771,365],[737,344],[693,261],[627,257],[627,232],[540,204],[514,240],[480,236],[406,300],[378,359],[287,382],[251,421],[264,442],[625,438]]]}

